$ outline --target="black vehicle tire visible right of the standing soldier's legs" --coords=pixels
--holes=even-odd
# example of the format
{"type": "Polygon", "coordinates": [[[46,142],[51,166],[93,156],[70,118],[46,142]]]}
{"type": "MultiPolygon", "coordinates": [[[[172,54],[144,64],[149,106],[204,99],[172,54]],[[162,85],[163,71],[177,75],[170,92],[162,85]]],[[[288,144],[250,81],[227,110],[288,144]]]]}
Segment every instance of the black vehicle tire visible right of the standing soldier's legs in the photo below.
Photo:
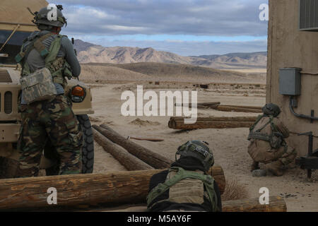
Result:
{"type": "Polygon", "coordinates": [[[77,115],[83,131],[84,145],[82,148],[82,174],[91,174],[94,167],[94,137],[90,119],[87,114],[77,115]]]}

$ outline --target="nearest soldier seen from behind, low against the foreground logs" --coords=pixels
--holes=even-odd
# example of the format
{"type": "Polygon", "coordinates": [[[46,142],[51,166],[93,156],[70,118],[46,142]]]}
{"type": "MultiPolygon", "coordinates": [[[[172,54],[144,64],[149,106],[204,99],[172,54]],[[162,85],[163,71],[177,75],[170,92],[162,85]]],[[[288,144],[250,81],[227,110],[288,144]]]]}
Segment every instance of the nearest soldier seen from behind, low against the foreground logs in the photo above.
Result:
{"type": "Polygon", "coordinates": [[[201,141],[181,145],[170,169],[153,175],[149,183],[147,207],[152,212],[222,210],[220,190],[208,170],[213,154],[201,141]],[[177,155],[180,155],[177,159],[177,155]]]}

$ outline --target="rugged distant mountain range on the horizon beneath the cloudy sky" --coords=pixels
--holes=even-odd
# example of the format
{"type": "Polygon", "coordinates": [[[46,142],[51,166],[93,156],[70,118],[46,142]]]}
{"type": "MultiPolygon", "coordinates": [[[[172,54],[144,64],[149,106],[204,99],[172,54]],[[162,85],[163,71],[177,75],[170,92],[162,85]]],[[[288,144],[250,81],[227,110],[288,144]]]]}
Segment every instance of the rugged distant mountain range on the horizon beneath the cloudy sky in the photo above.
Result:
{"type": "Polygon", "coordinates": [[[140,62],[191,64],[214,69],[266,69],[267,52],[231,53],[182,57],[151,47],[102,47],[75,40],[74,47],[81,63],[130,64],[140,62]]]}

